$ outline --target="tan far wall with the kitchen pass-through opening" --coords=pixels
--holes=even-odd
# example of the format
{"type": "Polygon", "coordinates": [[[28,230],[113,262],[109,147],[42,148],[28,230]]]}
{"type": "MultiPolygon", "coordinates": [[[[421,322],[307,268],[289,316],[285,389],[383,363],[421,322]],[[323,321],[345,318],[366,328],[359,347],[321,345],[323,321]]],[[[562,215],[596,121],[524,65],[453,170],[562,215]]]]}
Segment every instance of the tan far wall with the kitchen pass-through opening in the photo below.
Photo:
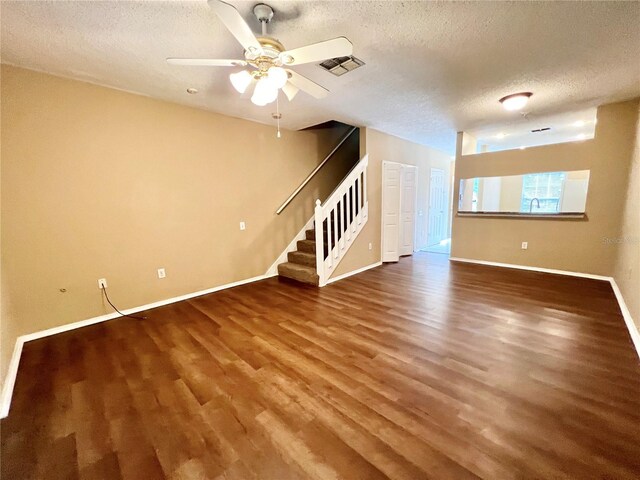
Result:
{"type": "MultiPolygon", "coordinates": [[[[616,247],[605,239],[619,232],[637,117],[637,100],[605,105],[598,109],[593,140],[477,155],[458,153],[454,198],[461,178],[558,170],[591,170],[591,177],[588,220],[454,216],[451,255],[611,275],[616,247]],[[528,250],[521,250],[523,241],[529,243],[528,250]]],[[[458,152],[463,151],[462,140],[458,152]]]]}

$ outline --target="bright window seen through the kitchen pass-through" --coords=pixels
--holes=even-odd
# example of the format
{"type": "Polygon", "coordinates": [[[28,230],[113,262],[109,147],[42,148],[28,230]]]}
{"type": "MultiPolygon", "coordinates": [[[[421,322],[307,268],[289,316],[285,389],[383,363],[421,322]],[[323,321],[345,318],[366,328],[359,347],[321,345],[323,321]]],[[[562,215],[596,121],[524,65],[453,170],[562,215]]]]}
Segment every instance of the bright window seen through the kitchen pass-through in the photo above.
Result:
{"type": "Polygon", "coordinates": [[[555,213],[560,211],[565,172],[524,175],[520,212],[555,213]]]}

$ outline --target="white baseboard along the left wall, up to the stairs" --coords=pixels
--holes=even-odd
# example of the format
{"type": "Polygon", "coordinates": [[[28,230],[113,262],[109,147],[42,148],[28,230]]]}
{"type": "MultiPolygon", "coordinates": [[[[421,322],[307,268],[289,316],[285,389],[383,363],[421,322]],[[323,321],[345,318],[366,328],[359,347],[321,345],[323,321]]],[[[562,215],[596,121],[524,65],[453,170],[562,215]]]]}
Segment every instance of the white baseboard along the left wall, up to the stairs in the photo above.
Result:
{"type": "MultiPolygon", "coordinates": [[[[125,315],[133,315],[134,313],[143,312],[152,308],[162,307],[171,303],[181,302],[183,300],[189,300],[190,298],[200,297],[209,293],[218,292],[220,290],[226,290],[227,288],[238,287],[247,283],[257,282],[259,280],[265,280],[273,277],[273,275],[265,274],[257,277],[247,278],[245,280],[239,280],[237,282],[227,283],[225,285],[219,285],[217,287],[208,288],[206,290],[200,290],[198,292],[187,293],[186,295],[180,295],[179,297],[168,298],[166,300],[160,300],[158,302],[149,303],[147,305],[141,305],[139,307],[129,308],[122,310],[125,315]]],[[[68,323],[66,325],[60,325],[59,327],[48,328],[47,330],[41,330],[39,332],[29,333],[21,335],[16,339],[16,344],[13,349],[13,355],[9,363],[9,368],[5,376],[4,383],[2,385],[2,395],[0,397],[0,418],[5,418],[9,414],[9,408],[11,406],[11,397],[13,396],[13,387],[16,382],[16,375],[18,374],[18,365],[20,363],[20,356],[22,355],[22,347],[25,342],[31,340],[37,340],[39,338],[48,337],[57,333],[68,332],[69,330],[75,330],[76,328],[86,327],[96,323],[106,322],[107,320],[113,320],[114,318],[121,318],[121,315],[117,312],[109,313],[107,315],[100,315],[98,317],[88,318],[86,320],[80,320],[78,322],[68,323]]]]}

